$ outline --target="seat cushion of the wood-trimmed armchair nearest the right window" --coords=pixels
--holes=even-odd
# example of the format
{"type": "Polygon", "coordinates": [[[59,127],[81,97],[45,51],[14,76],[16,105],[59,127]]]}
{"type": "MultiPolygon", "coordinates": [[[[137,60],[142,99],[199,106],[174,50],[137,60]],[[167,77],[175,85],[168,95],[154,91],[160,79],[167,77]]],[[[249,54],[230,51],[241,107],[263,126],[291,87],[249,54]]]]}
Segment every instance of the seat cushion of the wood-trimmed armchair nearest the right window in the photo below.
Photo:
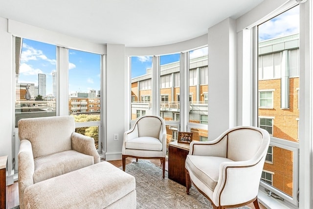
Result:
{"type": "Polygon", "coordinates": [[[214,156],[188,155],[186,167],[188,166],[191,172],[213,191],[219,180],[220,164],[223,162],[232,162],[232,160],[214,156]]]}

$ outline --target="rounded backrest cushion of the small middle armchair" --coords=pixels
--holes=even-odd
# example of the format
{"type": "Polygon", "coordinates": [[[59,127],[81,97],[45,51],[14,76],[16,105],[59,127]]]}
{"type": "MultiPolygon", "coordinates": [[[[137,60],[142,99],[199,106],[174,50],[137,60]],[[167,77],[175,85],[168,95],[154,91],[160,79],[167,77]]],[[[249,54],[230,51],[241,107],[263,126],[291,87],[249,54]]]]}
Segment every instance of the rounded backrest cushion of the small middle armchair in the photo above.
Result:
{"type": "Polygon", "coordinates": [[[155,116],[144,116],[137,121],[139,137],[153,137],[159,139],[162,121],[155,116]]]}

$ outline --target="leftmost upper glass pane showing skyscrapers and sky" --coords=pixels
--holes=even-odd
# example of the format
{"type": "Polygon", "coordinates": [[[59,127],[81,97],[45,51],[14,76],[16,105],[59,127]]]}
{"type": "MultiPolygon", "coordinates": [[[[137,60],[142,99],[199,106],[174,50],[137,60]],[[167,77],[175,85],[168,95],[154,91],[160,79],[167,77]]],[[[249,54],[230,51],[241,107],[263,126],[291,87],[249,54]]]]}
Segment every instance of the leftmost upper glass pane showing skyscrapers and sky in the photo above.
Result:
{"type": "Polygon", "coordinates": [[[22,118],[56,116],[56,46],[16,37],[15,126],[22,118]]]}

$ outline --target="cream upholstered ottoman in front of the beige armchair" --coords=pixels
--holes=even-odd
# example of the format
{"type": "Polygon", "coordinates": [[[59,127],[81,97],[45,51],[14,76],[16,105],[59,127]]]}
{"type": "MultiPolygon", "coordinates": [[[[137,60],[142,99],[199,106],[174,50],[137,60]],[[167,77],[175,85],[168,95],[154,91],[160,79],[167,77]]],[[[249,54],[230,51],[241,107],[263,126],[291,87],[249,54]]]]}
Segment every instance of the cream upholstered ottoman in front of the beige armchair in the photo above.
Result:
{"type": "Polygon", "coordinates": [[[134,176],[101,162],[28,186],[26,209],[135,209],[134,176]]]}

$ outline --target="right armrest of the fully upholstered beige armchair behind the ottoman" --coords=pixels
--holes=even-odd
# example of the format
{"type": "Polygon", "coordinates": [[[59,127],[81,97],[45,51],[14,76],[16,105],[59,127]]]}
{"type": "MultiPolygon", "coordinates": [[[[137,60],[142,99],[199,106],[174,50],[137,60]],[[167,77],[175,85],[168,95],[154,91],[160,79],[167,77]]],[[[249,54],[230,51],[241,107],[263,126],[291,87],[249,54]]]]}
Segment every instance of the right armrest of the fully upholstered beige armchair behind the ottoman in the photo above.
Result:
{"type": "Polygon", "coordinates": [[[100,155],[96,150],[93,138],[73,132],[71,135],[71,141],[73,150],[85,155],[93,156],[94,163],[100,162],[100,155]]]}

